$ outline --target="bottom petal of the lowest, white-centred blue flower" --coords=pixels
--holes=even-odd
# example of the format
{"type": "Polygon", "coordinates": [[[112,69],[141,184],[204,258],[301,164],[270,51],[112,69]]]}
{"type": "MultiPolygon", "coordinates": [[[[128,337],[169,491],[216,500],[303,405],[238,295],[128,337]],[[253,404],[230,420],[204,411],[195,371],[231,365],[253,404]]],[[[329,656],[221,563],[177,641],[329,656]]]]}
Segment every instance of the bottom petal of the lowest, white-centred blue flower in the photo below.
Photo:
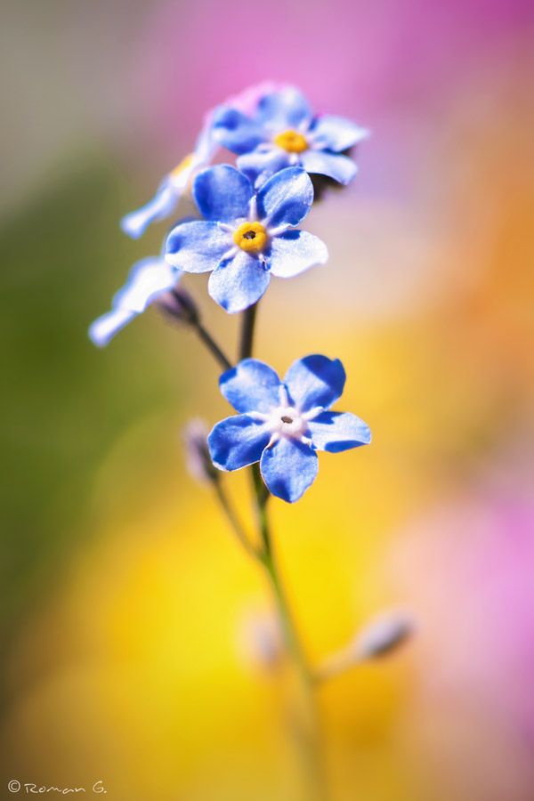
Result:
{"type": "Polygon", "coordinates": [[[263,451],[260,467],[272,495],[294,504],[315,481],[319,459],[309,445],[283,437],[263,451]]]}

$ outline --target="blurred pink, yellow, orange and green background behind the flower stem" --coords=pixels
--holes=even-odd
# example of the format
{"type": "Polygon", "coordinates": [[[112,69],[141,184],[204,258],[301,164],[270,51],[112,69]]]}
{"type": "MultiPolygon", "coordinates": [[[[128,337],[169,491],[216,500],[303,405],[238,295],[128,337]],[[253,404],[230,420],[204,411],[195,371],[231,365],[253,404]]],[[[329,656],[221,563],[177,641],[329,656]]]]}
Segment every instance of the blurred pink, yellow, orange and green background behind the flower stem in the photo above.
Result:
{"type": "MultiPolygon", "coordinates": [[[[128,801],[295,801],[270,599],[185,470],[230,413],[152,310],[91,320],[134,261],[118,228],[201,117],[265,78],[372,129],[312,212],[327,266],[274,280],[256,354],[344,361],[371,447],[273,503],[314,659],[384,609],[417,638],[320,692],[336,801],[534,797],[532,6],[526,0],[3,0],[2,797],[16,779],[128,801]]],[[[237,320],[184,286],[229,350],[237,320]]],[[[241,475],[230,477],[236,497],[241,475]]],[[[243,510],[245,510],[243,506],[243,510]]]]}

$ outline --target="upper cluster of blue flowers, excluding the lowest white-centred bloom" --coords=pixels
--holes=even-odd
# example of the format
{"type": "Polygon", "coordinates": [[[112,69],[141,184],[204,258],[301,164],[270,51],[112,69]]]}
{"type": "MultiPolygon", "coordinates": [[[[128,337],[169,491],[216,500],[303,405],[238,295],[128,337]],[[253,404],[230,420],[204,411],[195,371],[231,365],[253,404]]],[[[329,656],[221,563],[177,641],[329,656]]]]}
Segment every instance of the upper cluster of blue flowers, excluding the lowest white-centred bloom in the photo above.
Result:
{"type": "Polygon", "coordinates": [[[141,237],[151,223],[174,214],[188,191],[204,220],[179,222],[160,258],[134,265],[111,312],[93,323],[94,344],[108,344],[175,287],[183,272],[213,271],[210,295],[227,312],[239,312],[257,302],[271,275],[290,278],[325,263],[324,244],[295,230],[313,202],[308,174],[350,182],[356,164],[346,153],[367,134],[343,117],[314,114],[301,92],[272,82],[252,86],[208,112],[194,150],[121,226],[134,239],[141,237]],[[222,146],[239,154],[238,169],[207,166],[222,146]],[[285,173],[287,168],[291,172],[285,173]],[[159,271],[151,269],[158,263],[159,271]]]}

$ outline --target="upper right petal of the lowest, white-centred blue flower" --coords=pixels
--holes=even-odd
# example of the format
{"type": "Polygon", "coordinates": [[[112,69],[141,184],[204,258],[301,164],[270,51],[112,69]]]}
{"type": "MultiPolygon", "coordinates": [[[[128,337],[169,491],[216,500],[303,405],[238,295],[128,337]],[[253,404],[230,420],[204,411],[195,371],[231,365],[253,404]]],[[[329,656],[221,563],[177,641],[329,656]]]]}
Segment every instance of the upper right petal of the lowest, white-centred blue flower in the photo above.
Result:
{"type": "Polygon", "coordinates": [[[339,359],[312,355],[295,361],[284,376],[284,383],[297,409],[328,409],[344,389],[345,371],[339,359]]]}

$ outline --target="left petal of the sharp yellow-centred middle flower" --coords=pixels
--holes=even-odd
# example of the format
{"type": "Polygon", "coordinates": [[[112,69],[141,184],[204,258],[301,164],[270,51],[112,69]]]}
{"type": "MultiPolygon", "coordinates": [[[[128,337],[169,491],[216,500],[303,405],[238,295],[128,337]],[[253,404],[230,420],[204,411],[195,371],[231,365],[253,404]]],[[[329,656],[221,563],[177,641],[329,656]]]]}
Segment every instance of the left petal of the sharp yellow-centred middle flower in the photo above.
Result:
{"type": "Polygon", "coordinates": [[[185,272],[214,270],[234,243],[218,223],[192,220],[179,223],[166,239],[166,260],[185,272]]]}

